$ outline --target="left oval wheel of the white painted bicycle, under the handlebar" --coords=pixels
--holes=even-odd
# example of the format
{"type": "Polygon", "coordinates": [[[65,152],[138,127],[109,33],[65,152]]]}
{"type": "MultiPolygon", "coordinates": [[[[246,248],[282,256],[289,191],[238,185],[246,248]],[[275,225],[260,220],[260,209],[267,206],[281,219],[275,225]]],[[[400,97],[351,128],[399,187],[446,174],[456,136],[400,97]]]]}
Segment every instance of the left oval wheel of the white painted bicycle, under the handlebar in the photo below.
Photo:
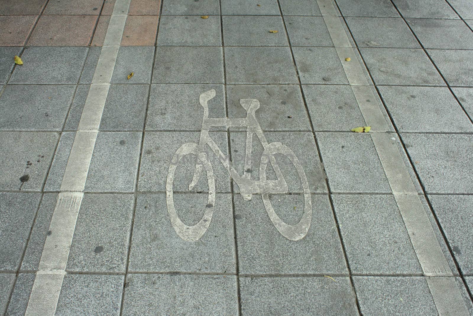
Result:
{"type": "Polygon", "coordinates": [[[199,145],[195,143],[186,143],[176,150],[174,157],[169,164],[169,170],[167,172],[166,204],[167,212],[169,213],[169,218],[171,219],[171,225],[173,226],[176,234],[185,241],[197,241],[205,234],[207,229],[209,229],[215,205],[215,178],[213,175],[212,165],[207,159],[207,155],[201,153],[201,148],[199,145]],[[209,185],[209,197],[207,199],[207,206],[204,206],[204,215],[194,226],[187,226],[181,221],[175,210],[173,195],[174,174],[176,167],[181,161],[181,158],[189,153],[194,154],[204,166],[207,173],[207,182],[209,185]]]}

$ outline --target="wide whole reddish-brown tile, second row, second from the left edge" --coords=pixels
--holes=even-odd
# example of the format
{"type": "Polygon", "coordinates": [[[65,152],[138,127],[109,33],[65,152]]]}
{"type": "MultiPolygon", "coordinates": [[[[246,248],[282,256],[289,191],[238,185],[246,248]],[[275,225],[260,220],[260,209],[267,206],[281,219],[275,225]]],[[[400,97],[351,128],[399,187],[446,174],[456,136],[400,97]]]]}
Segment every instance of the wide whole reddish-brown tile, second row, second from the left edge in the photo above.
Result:
{"type": "Polygon", "coordinates": [[[42,16],[28,45],[87,46],[97,18],[96,15],[42,16]]]}

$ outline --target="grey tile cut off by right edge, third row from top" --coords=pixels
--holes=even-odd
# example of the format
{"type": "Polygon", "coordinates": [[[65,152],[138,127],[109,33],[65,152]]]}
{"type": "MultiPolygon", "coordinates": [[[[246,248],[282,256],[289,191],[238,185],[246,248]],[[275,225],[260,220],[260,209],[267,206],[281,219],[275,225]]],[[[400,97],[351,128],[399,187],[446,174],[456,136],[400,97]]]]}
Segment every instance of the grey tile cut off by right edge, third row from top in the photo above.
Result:
{"type": "Polygon", "coordinates": [[[450,86],[473,86],[470,51],[429,49],[427,52],[450,86]]]}

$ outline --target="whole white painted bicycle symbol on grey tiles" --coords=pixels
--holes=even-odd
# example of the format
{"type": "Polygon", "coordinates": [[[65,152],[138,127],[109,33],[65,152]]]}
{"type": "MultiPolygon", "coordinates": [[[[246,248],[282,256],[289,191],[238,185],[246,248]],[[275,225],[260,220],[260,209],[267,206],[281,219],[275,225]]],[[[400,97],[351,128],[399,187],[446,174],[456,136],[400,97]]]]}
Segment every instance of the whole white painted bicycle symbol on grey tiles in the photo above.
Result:
{"type": "Polygon", "coordinates": [[[166,204],[171,224],[175,229],[175,232],[179,237],[186,241],[197,241],[202,235],[205,234],[210,226],[210,220],[213,215],[213,209],[215,205],[215,177],[213,175],[212,165],[210,164],[207,153],[204,152],[204,146],[208,145],[212,152],[217,157],[224,157],[224,154],[220,150],[219,146],[209,135],[209,128],[211,126],[246,126],[246,145],[245,145],[245,172],[240,176],[233,168],[232,163],[228,159],[219,159],[226,170],[229,172],[230,177],[236,182],[240,188],[240,194],[245,200],[250,200],[253,194],[261,194],[263,198],[263,204],[266,208],[268,216],[272,224],[280,232],[281,235],[289,240],[297,241],[304,238],[309,230],[310,223],[312,220],[312,199],[309,191],[309,184],[307,182],[306,173],[302,169],[302,165],[299,162],[296,155],[284,144],[274,142],[269,143],[263,135],[263,131],[256,120],[255,111],[260,107],[260,103],[257,99],[241,99],[240,105],[245,108],[247,114],[245,118],[210,118],[208,101],[215,97],[215,90],[209,90],[200,95],[199,101],[201,106],[204,108],[204,114],[202,118],[202,128],[199,144],[196,143],[185,143],[181,145],[175,152],[173,160],[169,165],[166,180],[166,204]],[[253,143],[253,135],[256,134],[259,141],[263,145],[264,151],[260,162],[260,180],[251,180],[251,148],[253,143]],[[284,180],[282,172],[280,171],[279,165],[276,161],[275,154],[283,154],[292,162],[298,172],[302,184],[302,190],[304,195],[304,213],[300,221],[295,225],[286,224],[280,219],[280,217],[274,211],[271,201],[270,194],[277,193],[288,193],[288,184],[284,180]],[[201,220],[194,226],[185,225],[179,218],[173,198],[173,184],[174,175],[177,165],[182,157],[187,154],[194,154],[196,159],[195,171],[193,179],[189,184],[189,190],[199,181],[202,172],[205,170],[207,173],[207,182],[209,186],[208,204],[205,208],[205,212],[201,220]],[[266,167],[268,163],[271,163],[274,172],[276,173],[277,180],[266,180],[266,167]]]}

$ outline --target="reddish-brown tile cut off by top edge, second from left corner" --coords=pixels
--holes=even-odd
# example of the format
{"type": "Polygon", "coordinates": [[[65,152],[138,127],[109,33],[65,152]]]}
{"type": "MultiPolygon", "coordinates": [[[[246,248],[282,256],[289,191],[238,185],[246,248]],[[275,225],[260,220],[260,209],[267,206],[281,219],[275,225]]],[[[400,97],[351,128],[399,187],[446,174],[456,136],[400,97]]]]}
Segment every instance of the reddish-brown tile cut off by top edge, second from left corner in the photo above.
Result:
{"type": "Polygon", "coordinates": [[[49,0],[43,14],[98,15],[104,0],[49,0]]]}

